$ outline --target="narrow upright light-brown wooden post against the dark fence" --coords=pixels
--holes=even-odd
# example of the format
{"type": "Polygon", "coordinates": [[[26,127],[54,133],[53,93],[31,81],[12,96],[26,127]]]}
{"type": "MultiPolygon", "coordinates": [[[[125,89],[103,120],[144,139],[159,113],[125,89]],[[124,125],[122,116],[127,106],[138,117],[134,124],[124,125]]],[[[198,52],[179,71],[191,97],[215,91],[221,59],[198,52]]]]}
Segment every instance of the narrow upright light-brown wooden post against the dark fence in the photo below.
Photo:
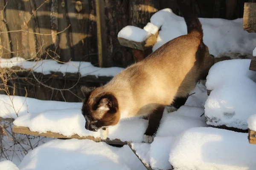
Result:
{"type": "Polygon", "coordinates": [[[106,25],[105,25],[105,4],[104,0],[96,0],[96,23],[99,67],[104,66],[104,59],[107,56],[106,25]]]}

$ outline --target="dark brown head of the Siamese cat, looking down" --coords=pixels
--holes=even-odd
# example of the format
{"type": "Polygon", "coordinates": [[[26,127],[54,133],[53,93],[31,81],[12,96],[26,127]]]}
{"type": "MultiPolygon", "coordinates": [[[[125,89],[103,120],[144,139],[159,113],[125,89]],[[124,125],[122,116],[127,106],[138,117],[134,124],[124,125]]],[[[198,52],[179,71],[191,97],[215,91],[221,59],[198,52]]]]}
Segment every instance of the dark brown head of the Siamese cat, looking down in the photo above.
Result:
{"type": "Polygon", "coordinates": [[[84,94],[81,111],[87,130],[97,131],[102,127],[113,126],[119,122],[120,114],[115,96],[101,93],[101,87],[82,86],[81,91],[84,94]]]}

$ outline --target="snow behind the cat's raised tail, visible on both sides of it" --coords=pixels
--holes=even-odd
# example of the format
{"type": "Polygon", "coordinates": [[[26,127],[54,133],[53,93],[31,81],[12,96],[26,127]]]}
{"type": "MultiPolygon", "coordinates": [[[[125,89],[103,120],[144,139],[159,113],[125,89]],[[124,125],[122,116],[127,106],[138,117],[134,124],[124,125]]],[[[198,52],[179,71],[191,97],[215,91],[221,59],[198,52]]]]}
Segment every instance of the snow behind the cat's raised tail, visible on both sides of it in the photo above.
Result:
{"type": "MultiPolygon", "coordinates": [[[[243,18],[225,20],[219,18],[199,18],[203,31],[204,43],[209,48],[209,53],[215,57],[239,53],[252,55],[256,44],[256,33],[248,33],[243,29],[243,18]]],[[[180,17],[166,8],[152,15],[150,22],[161,27],[157,43],[153,51],[164,43],[181,35],[187,34],[187,27],[183,17],[180,17]]]]}

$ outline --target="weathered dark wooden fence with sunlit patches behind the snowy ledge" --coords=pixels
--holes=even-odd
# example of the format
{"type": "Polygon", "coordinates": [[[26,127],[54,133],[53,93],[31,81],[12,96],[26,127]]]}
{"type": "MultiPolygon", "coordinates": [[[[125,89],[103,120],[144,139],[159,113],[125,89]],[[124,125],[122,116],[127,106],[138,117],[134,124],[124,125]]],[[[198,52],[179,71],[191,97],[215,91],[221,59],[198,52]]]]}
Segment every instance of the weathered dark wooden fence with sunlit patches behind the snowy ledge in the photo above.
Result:
{"type": "MultiPolygon", "coordinates": [[[[253,1],[196,0],[195,8],[198,17],[236,19],[243,17],[244,3],[253,1]]],[[[171,8],[179,15],[176,0],[0,0],[0,56],[50,59],[50,55],[62,62],[87,61],[96,66],[100,63],[103,67],[126,67],[134,62],[134,57],[130,48],[119,44],[118,32],[127,25],[143,28],[163,8],[171,8]],[[101,34],[97,33],[99,18],[101,34]],[[102,49],[98,51],[98,47],[102,49]]],[[[95,83],[84,79],[76,84],[77,80],[70,77],[42,75],[40,80],[53,89],[25,74],[15,75],[9,85],[16,84],[19,96],[25,95],[26,87],[29,97],[79,102],[80,85],[99,86],[108,81],[95,83]],[[74,85],[71,92],[54,90],[74,85]]]]}

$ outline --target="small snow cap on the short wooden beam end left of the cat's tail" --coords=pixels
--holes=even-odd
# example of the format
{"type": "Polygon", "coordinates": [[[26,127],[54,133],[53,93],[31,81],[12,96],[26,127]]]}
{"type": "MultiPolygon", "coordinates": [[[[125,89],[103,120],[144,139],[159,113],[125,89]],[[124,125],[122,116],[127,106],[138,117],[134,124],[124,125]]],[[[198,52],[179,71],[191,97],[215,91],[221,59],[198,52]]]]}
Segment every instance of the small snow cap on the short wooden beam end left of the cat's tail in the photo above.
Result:
{"type": "Polygon", "coordinates": [[[135,26],[125,26],[117,35],[119,38],[124,38],[126,40],[132,40],[135,42],[143,42],[149,36],[151,36],[149,32],[135,26]]]}

